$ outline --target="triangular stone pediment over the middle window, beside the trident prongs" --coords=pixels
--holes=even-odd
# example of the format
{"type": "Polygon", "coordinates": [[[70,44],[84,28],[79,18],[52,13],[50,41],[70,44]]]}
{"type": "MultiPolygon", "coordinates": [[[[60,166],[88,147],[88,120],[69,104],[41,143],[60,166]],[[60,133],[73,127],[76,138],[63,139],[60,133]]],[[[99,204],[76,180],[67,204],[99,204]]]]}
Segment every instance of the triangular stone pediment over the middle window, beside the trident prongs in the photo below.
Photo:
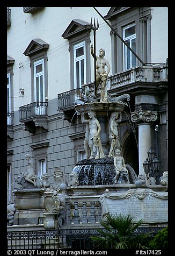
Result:
{"type": "Polygon", "coordinates": [[[91,30],[91,25],[88,22],[84,22],[80,19],[73,19],[67,29],[62,34],[64,39],[70,39],[71,37],[75,36],[76,34],[91,30]]]}

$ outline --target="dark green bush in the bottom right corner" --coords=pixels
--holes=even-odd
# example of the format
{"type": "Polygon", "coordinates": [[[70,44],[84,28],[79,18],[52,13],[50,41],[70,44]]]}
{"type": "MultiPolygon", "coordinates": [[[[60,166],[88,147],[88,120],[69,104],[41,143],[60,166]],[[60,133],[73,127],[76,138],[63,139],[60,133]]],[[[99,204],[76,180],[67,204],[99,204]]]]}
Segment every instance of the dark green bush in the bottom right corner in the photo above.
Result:
{"type": "Polygon", "coordinates": [[[150,241],[149,247],[151,249],[162,250],[168,247],[168,226],[159,230],[156,236],[150,241]]]}

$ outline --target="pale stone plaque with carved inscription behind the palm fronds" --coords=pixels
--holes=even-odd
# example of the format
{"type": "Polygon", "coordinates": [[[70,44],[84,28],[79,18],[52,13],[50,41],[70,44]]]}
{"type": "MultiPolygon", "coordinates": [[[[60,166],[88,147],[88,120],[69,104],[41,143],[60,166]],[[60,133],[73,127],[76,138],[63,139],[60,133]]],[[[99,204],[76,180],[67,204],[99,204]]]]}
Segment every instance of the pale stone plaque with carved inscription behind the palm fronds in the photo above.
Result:
{"type": "Polygon", "coordinates": [[[137,222],[167,222],[167,192],[156,193],[151,189],[130,189],[125,193],[105,193],[100,197],[101,216],[111,214],[130,214],[137,222]]]}

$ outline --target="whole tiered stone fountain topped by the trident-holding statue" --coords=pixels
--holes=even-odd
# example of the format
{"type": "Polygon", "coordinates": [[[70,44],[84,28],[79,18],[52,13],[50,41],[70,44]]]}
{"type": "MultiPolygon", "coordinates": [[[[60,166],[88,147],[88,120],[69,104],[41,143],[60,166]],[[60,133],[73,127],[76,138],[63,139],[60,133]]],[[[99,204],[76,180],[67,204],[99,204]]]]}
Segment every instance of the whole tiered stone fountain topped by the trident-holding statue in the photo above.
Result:
{"type": "MultiPolygon", "coordinates": [[[[92,26],[95,27],[95,25],[92,26]]],[[[79,185],[106,185],[126,183],[125,178],[115,181],[116,168],[114,166],[115,150],[120,149],[118,137],[118,123],[121,122],[122,112],[128,105],[130,96],[123,94],[116,96],[107,92],[107,76],[110,73],[110,63],[104,58],[105,50],[99,50],[96,56],[96,47],[91,45],[91,54],[94,62],[94,94],[85,88],[82,99],[75,101],[75,110],[81,115],[82,123],[86,124],[84,149],[86,159],[79,161],[72,170],[78,176],[79,185]],[[96,65],[96,66],[95,66],[96,65]],[[105,70],[107,67],[107,71],[105,70]],[[96,92],[100,86],[100,102],[96,92]],[[127,101],[127,102],[126,102],[127,101]]],[[[124,160],[123,160],[124,161],[124,160]]],[[[122,168],[120,173],[122,176],[122,168]]],[[[126,169],[125,169],[126,170],[126,169]]],[[[127,181],[135,183],[137,175],[132,167],[127,168],[127,181]]],[[[120,178],[120,177],[119,177],[120,178]]]]}

